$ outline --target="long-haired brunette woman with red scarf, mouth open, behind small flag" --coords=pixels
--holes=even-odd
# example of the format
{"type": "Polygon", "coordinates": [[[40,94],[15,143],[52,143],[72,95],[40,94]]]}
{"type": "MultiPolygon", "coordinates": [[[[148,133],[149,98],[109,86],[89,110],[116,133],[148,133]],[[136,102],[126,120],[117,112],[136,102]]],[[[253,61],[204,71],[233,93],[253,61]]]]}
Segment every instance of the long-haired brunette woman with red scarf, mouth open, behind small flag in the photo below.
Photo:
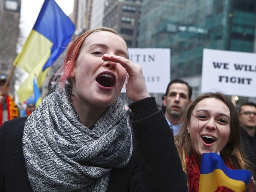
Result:
{"type": "MultiPolygon", "coordinates": [[[[175,136],[190,192],[198,191],[203,153],[218,153],[230,169],[251,170],[244,156],[238,114],[234,104],[222,93],[208,92],[196,98],[185,113],[180,134],[175,136]]],[[[232,192],[223,186],[217,192],[232,192]]],[[[246,191],[254,192],[251,180],[246,191]]]]}

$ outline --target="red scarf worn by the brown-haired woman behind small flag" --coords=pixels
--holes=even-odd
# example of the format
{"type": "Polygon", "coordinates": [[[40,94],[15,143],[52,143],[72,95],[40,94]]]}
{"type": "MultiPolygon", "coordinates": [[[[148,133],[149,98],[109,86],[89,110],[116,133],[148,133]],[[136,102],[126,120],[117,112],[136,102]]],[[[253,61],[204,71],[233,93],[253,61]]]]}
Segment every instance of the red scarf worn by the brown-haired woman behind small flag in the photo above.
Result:
{"type": "MultiPolygon", "coordinates": [[[[198,160],[198,159],[197,159],[198,160]]],[[[224,161],[228,168],[232,169],[231,165],[224,161]]],[[[188,187],[189,192],[198,192],[199,189],[199,176],[200,176],[200,169],[199,169],[199,162],[196,161],[196,155],[194,152],[190,153],[190,156],[186,156],[186,163],[187,163],[187,174],[188,174],[188,187]]],[[[216,192],[233,192],[229,188],[220,186],[217,188],[216,192]]]]}

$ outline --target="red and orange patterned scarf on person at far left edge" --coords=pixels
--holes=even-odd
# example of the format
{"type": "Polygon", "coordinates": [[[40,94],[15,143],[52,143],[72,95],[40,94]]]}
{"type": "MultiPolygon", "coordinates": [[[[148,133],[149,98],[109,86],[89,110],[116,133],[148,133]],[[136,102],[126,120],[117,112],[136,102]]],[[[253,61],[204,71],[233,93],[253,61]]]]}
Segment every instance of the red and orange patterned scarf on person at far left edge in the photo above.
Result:
{"type": "MultiPolygon", "coordinates": [[[[6,95],[6,105],[8,121],[20,116],[19,108],[17,107],[16,103],[10,95],[6,95]]],[[[0,125],[2,125],[3,123],[3,105],[2,103],[0,103],[0,125]]]]}

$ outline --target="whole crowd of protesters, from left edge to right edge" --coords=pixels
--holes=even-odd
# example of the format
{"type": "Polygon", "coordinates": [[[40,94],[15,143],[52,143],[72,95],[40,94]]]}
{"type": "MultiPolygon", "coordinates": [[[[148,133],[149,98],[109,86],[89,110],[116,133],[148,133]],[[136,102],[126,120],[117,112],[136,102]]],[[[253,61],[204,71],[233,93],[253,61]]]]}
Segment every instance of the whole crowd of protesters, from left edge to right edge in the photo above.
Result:
{"type": "MultiPolygon", "coordinates": [[[[23,115],[9,84],[0,96],[0,191],[194,192],[209,152],[251,171],[244,191],[255,191],[254,103],[237,112],[220,92],[192,101],[192,87],[174,79],[159,109],[123,37],[105,27],[76,38],[58,74],[51,94],[37,108],[29,98],[23,115]]],[[[1,92],[6,81],[0,75],[1,92]]]]}

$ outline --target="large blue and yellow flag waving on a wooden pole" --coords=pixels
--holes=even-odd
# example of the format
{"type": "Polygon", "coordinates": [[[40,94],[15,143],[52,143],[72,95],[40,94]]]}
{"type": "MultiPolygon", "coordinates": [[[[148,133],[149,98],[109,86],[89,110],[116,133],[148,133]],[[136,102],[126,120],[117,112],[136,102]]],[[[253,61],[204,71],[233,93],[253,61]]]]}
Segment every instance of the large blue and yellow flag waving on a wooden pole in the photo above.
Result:
{"type": "Polygon", "coordinates": [[[33,93],[36,75],[41,87],[47,71],[66,49],[75,31],[75,26],[54,0],[45,0],[20,54],[13,62],[28,72],[28,78],[17,91],[22,103],[33,93]]]}

